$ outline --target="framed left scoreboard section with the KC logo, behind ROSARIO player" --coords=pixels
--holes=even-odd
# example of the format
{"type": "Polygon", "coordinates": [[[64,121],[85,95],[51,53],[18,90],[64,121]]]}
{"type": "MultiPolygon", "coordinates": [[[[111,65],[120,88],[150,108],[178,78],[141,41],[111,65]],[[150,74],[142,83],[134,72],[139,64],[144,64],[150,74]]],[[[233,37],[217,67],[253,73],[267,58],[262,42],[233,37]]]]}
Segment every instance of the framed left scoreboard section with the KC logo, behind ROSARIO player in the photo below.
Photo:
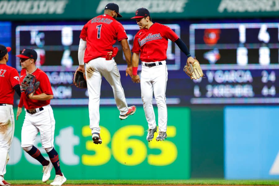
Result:
{"type": "MultiPolygon", "coordinates": [[[[134,22],[133,22],[134,23],[134,22]]],[[[180,36],[178,24],[167,24],[180,36]]],[[[123,24],[128,36],[130,48],[132,48],[135,34],[139,30],[137,24],[123,24]]],[[[18,25],[15,27],[15,48],[19,54],[24,48],[33,48],[38,53],[36,66],[45,71],[50,79],[54,99],[52,105],[87,105],[87,89],[79,89],[73,86],[73,72],[78,68],[79,35],[83,25],[18,25]]],[[[169,42],[167,50],[167,63],[169,70],[180,69],[180,49],[169,42]]],[[[114,58],[117,67],[123,75],[126,71],[126,60],[119,42],[114,47],[119,51],[114,58]]],[[[15,68],[20,71],[20,59],[15,59],[15,68]]],[[[141,66],[139,65],[139,70],[141,66]]],[[[122,86],[131,83],[131,78],[122,78],[122,86]],[[126,80],[126,81],[125,81],[126,80]]],[[[133,88],[131,88],[133,89],[133,88]]],[[[125,89],[129,90],[129,88],[125,89]]],[[[115,104],[111,87],[105,81],[102,82],[101,105],[115,104]],[[111,94],[110,94],[111,93],[111,94]]],[[[139,90],[131,90],[127,94],[128,104],[142,104],[139,90]],[[135,93],[133,93],[135,92],[135,93]],[[131,94],[129,94],[131,93],[131,94]]],[[[169,99],[169,103],[177,103],[177,99],[169,99]]]]}

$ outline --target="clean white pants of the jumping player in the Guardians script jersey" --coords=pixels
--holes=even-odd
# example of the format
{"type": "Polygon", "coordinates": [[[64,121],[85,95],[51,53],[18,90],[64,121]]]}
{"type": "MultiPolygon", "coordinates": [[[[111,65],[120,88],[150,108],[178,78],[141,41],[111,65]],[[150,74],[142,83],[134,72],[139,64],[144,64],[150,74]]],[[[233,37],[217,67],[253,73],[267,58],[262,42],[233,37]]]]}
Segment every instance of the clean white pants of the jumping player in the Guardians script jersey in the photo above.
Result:
{"type": "Polygon", "coordinates": [[[147,67],[142,64],[140,75],[141,99],[148,128],[156,127],[155,113],[152,105],[153,92],[158,107],[159,131],[166,132],[167,129],[167,106],[166,106],[166,83],[168,81],[168,69],[166,61],[161,61],[162,65],[147,67]]]}

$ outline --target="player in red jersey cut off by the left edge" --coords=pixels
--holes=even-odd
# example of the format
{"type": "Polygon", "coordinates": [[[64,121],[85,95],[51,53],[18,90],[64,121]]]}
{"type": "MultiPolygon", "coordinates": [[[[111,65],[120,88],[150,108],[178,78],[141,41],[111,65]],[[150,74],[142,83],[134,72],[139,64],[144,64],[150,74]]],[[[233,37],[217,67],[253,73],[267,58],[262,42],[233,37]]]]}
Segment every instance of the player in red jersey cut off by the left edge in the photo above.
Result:
{"type": "Polygon", "coordinates": [[[19,74],[7,65],[10,47],[0,45],[0,185],[11,185],[4,180],[9,150],[14,137],[15,118],[13,112],[14,94],[20,96],[19,74]]]}

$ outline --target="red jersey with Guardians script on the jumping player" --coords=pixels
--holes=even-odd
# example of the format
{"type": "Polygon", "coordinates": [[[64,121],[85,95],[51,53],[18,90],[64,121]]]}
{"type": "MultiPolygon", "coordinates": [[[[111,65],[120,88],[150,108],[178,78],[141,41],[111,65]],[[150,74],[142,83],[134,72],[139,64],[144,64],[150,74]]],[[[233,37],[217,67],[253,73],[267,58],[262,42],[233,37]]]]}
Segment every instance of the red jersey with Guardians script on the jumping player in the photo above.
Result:
{"type": "Polygon", "coordinates": [[[138,31],[132,52],[140,52],[140,60],[144,62],[163,61],[167,59],[168,39],[175,42],[178,38],[170,27],[154,23],[149,29],[138,31]]]}

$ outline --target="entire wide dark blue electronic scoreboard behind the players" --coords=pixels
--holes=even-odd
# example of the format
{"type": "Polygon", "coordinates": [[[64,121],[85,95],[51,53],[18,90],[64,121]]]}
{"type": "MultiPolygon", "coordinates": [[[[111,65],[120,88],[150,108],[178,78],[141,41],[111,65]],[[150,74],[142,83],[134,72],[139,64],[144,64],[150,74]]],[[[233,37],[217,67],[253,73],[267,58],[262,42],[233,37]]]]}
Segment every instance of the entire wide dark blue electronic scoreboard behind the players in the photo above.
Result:
{"type": "MultiPolygon", "coordinates": [[[[135,21],[120,22],[132,48],[139,27],[135,21]]],[[[26,47],[38,53],[36,65],[47,73],[54,92],[52,105],[88,104],[87,90],[78,89],[72,82],[78,67],[82,23],[12,23],[16,54],[26,47]]],[[[205,73],[205,78],[194,81],[188,78],[183,72],[186,55],[169,40],[168,105],[279,104],[279,20],[158,20],[158,23],[169,26],[186,43],[205,73]]],[[[126,101],[142,105],[139,84],[125,76],[126,61],[120,43],[116,42],[114,47],[119,49],[114,59],[126,101]]],[[[13,63],[20,71],[19,59],[15,58],[13,63]]],[[[141,65],[139,75],[140,70],[141,65]]],[[[155,99],[153,103],[156,104],[155,99]]],[[[106,80],[102,81],[100,104],[115,104],[106,80]]]]}

